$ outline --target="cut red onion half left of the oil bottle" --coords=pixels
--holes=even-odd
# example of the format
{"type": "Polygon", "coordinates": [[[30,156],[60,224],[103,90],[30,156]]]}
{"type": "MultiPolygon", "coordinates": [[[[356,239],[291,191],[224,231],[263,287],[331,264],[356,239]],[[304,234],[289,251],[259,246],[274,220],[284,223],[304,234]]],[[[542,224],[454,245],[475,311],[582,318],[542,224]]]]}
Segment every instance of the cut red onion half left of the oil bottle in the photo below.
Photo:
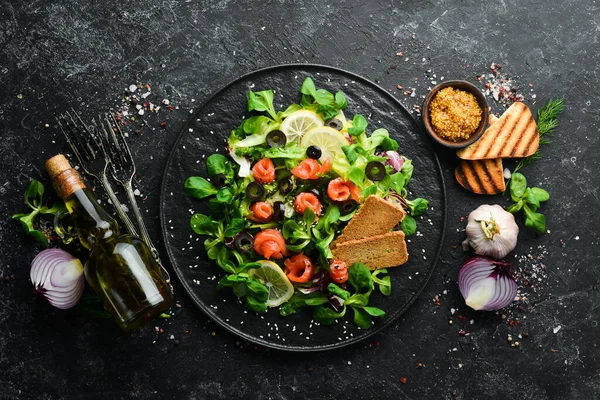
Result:
{"type": "Polygon", "coordinates": [[[83,265],[60,249],[41,251],[31,262],[33,292],[44,296],[56,308],[71,308],[83,293],[83,265]]]}

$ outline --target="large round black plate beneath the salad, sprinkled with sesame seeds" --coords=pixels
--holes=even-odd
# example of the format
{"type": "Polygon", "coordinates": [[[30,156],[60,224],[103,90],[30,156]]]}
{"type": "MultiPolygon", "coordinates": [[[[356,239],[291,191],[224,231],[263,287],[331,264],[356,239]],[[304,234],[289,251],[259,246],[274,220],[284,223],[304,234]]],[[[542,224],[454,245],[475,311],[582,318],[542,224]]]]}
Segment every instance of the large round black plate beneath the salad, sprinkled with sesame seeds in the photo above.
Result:
{"type": "Polygon", "coordinates": [[[169,258],[194,303],[214,322],[253,343],[291,351],[333,349],[363,340],[394,322],[408,309],[433,273],[444,238],[446,196],[438,159],[410,113],[388,92],[350,72],[321,65],[281,65],[236,79],[198,109],[181,132],[167,161],[161,191],[161,223],[169,258]],[[300,86],[311,77],[318,88],[339,90],[348,100],[347,115],[368,117],[370,133],[386,128],[412,159],[410,197],[424,197],[430,208],[417,217],[417,233],[407,238],[409,261],[391,268],[392,294],[371,296],[370,305],[386,311],[368,330],[354,325],[353,312],[331,326],[315,324],[309,311],[281,317],[277,309],[264,315],[247,311],[230,290],[217,290],[221,269],[206,257],[203,237],[189,225],[193,212],[208,214],[208,202],[186,196],[189,176],[206,176],[205,159],[224,154],[229,133],[248,117],[247,93],[272,89],[276,109],[300,101],[300,86]]]}

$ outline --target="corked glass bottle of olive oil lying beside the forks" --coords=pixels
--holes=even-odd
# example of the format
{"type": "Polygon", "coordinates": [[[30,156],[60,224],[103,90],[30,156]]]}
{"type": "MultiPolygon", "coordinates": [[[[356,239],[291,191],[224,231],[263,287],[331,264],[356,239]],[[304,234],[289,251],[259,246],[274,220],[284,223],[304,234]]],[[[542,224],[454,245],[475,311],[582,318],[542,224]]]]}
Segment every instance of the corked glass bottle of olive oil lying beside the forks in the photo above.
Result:
{"type": "Polygon", "coordinates": [[[85,277],[116,323],[130,331],[170,307],[172,294],[148,246],[120,235],[114,220],[96,201],[62,155],[46,162],[58,195],[65,201],[81,244],[90,250],[85,277]]]}

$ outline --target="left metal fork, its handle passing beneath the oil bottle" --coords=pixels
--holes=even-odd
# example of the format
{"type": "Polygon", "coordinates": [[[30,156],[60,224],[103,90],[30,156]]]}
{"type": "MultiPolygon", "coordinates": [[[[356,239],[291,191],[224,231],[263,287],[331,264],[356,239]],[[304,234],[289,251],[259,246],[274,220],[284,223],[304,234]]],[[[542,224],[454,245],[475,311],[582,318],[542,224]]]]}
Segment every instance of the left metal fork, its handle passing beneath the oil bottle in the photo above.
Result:
{"type": "Polygon", "coordinates": [[[135,225],[123,210],[119,199],[108,181],[106,171],[109,161],[104,154],[101,135],[95,129],[89,129],[74,110],[59,115],[56,121],[83,171],[100,181],[108,194],[108,198],[117,210],[119,218],[125,224],[127,232],[137,236],[138,233],[135,225]]]}

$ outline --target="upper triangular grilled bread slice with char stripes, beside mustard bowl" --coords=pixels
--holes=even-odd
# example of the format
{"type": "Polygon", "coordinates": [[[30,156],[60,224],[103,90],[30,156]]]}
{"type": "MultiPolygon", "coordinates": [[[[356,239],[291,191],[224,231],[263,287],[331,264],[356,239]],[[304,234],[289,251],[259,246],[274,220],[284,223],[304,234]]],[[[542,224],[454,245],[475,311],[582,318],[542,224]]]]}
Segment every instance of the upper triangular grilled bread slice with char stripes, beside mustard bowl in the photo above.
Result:
{"type": "Polygon", "coordinates": [[[481,139],[456,154],[463,160],[520,158],[535,153],[539,144],[537,124],[529,107],[515,102],[486,129],[481,139]]]}

